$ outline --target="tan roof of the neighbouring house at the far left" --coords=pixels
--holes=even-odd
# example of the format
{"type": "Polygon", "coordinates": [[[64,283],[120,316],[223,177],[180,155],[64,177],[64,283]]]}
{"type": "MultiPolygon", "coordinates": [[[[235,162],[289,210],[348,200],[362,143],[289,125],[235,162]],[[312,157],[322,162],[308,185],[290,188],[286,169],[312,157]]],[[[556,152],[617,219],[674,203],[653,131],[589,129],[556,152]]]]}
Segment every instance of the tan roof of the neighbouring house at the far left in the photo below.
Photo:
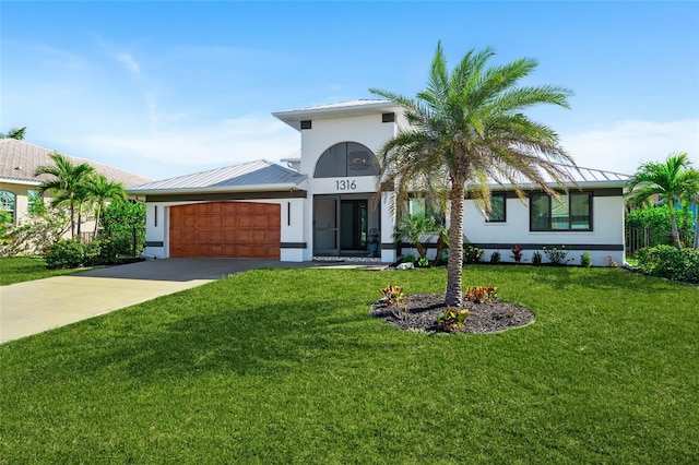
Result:
{"type": "MultiPolygon", "coordinates": [[[[49,157],[54,151],[39,147],[16,139],[0,139],[0,179],[3,182],[17,182],[38,186],[43,181],[52,179],[50,175],[34,176],[39,166],[52,166],[49,157]]],[[[86,158],[66,155],[73,164],[86,163],[107,178],[108,181],[121,182],[125,187],[151,181],[151,178],[123,171],[102,163],[86,158]]]]}

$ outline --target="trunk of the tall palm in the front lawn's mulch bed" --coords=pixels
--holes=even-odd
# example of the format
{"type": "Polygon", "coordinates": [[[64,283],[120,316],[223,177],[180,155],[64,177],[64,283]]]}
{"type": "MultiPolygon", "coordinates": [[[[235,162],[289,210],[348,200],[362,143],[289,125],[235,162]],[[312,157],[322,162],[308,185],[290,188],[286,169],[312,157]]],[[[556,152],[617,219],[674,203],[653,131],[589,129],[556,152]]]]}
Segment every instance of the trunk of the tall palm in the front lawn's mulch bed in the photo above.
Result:
{"type": "Polygon", "coordinates": [[[447,262],[447,293],[445,303],[461,307],[461,269],[463,267],[463,182],[451,183],[449,213],[449,261],[447,262]]]}

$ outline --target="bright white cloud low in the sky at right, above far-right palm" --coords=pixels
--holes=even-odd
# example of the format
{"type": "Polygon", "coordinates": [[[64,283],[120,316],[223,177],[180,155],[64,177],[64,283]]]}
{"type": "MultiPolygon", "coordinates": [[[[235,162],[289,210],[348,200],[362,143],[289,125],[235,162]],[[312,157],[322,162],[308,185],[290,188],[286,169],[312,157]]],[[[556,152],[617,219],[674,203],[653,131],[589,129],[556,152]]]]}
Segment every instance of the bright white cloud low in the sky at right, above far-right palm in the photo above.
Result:
{"type": "Polygon", "coordinates": [[[560,139],[576,163],[589,168],[632,174],[641,163],[662,162],[675,152],[699,165],[699,120],[617,121],[560,139]]]}

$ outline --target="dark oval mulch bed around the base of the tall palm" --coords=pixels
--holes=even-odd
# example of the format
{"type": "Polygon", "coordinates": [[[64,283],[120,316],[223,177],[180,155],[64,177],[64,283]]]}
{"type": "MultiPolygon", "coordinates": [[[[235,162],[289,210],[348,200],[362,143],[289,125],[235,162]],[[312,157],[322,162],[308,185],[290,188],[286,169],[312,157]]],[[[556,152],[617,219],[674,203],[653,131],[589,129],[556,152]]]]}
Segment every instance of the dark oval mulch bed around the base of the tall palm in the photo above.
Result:
{"type": "MultiPolygon", "coordinates": [[[[536,315],[517,303],[494,299],[491,303],[464,302],[469,309],[464,327],[454,333],[496,333],[531,323],[536,315]]],[[[384,300],[371,305],[371,315],[406,331],[441,333],[437,318],[447,310],[443,294],[410,294],[407,308],[396,317],[384,300]]]]}

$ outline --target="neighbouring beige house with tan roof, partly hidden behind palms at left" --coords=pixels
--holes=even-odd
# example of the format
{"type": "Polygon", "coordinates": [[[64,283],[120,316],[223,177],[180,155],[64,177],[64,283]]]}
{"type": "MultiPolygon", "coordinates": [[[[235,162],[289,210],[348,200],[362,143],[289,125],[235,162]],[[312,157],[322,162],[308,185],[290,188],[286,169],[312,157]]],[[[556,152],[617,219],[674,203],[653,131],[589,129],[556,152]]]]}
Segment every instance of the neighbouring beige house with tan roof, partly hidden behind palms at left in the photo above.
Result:
{"type": "MultiPolygon", "coordinates": [[[[13,224],[22,224],[31,218],[29,205],[38,200],[39,184],[51,179],[50,175],[34,176],[39,166],[51,166],[54,160],[48,148],[28,144],[15,139],[0,139],[0,210],[9,212],[13,224]]],[[[122,171],[107,165],[84,158],[68,156],[75,165],[86,163],[104,175],[107,180],[121,182],[125,187],[142,184],[149,178],[122,171]]],[[[48,198],[48,196],[47,196],[48,198]]],[[[82,230],[92,233],[93,223],[83,223],[82,230]]]]}

